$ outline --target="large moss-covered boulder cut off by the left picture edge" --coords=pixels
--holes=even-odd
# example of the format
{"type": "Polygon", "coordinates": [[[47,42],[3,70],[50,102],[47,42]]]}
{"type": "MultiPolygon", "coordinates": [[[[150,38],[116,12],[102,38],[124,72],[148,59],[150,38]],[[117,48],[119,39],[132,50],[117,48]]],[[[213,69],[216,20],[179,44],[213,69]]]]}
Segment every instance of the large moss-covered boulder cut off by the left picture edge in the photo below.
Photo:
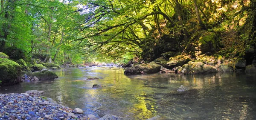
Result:
{"type": "Polygon", "coordinates": [[[0,80],[1,86],[13,85],[21,82],[21,68],[15,61],[0,58],[0,80]]]}

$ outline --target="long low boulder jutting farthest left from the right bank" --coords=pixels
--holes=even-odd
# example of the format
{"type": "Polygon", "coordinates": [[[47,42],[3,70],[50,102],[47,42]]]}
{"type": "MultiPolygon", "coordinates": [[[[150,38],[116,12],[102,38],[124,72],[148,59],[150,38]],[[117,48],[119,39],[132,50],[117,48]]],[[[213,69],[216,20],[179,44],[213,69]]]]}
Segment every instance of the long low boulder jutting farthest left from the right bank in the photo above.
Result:
{"type": "Polygon", "coordinates": [[[161,69],[161,65],[150,62],[147,64],[138,64],[135,66],[132,66],[125,70],[125,74],[147,74],[147,73],[156,73],[159,72],[161,69]]]}

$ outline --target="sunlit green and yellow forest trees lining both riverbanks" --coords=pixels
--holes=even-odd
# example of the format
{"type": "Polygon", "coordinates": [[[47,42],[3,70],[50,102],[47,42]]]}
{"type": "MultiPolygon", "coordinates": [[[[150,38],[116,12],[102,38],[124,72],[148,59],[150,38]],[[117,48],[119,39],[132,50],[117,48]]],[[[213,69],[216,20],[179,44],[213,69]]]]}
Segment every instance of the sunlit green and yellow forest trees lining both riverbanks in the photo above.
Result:
{"type": "Polygon", "coordinates": [[[203,52],[245,59],[255,48],[255,8],[255,0],[1,0],[0,51],[25,61],[151,62],[193,57],[199,38],[214,34],[203,52]]]}

